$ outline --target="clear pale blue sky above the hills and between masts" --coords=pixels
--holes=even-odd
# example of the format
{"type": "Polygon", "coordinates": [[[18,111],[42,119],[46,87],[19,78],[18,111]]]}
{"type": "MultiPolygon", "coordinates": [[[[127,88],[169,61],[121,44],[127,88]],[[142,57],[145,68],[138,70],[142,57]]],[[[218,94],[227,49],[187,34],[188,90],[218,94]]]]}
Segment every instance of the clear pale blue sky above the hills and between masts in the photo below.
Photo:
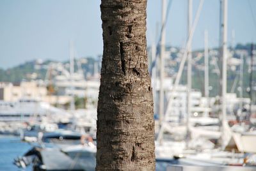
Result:
{"type": "MultiPolygon", "coordinates": [[[[169,0],[167,0],[168,2],[169,0]]],[[[199,0],[193,1],[195,15],[199,0]]],[[[31,59],[68,59],[69,41],[74,41],[76,56],[102,54],[100,0],[1,0],[0,68],[9,68],[31,59]]],[[[193,38],[193,48],[204,47],[204,30],[209,45],[219,42],[219,0],[205,0],[193,38]]],[[[148,45],[156,40],[161,20],[161,1],[148,0],[148,45]]],[[[228,1],[228,41],[232,30],[235,43],[256,41],[256,1],[228,1]],[[252,11],[250,6],[252,6],[252,11]]],[[[187,0],[173,0],[166,26],[166,43],[184,46],[187,27],[187,0]]]]}

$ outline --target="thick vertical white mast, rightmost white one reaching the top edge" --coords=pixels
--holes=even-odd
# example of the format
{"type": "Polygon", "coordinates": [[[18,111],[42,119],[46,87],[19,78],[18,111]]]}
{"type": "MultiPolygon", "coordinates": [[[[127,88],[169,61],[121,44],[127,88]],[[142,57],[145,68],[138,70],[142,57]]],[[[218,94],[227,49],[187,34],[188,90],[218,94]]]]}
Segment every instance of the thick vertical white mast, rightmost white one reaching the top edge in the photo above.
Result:
{"type": "Polygon", "coordinates": [[[221,97],[222,97],[222,130],[223,130],[223,147],[225,145],[225,125],[227,123],[227,105],[226,105],[226,94],[227,94],[227,0],[223,0],[223,23],[222,26],[222,74],[221,74],[221,97]]]}

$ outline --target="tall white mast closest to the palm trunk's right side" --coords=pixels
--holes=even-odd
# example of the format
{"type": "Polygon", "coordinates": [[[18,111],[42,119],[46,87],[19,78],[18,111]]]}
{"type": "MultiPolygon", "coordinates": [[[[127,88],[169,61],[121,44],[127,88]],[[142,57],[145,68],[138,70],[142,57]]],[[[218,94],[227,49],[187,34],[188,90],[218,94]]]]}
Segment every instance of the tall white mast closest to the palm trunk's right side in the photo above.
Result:
{"type": "Polygon", "coordinates": [[[161,51],[160,51],[160,96],[159,96],[159,121],[163,122],[164,117],[164,52],[165,52],[165,20],[166,0],[162,0],[162,21],[161,21],[161,51]]]}

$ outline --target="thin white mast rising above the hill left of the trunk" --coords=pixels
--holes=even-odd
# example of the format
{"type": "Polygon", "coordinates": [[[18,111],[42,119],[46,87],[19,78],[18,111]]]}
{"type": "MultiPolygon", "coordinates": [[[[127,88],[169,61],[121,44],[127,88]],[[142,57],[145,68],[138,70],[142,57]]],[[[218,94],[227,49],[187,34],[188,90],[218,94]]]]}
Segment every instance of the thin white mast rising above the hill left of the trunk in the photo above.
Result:
{"type": "Polygon", "coordinates": [[[75,104],[74,104],[74,85],[73,85],[73,75],[74,75],[74,45],[73,41],[70,41],[70,95],[71,95],[71,100],[70,100],[70,110],[75,109],[75,104]]]}

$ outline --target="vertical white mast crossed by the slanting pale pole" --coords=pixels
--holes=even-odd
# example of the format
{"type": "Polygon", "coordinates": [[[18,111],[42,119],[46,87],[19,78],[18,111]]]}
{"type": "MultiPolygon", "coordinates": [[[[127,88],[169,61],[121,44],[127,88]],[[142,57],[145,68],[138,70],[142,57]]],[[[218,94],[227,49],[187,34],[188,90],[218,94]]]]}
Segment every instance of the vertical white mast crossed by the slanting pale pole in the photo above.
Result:
{"type": "MultiPolygon", "coordinates": [[[[191,27],[192,27],[192,10],[193,10],[193,4],[192,0],[188,0],[188,38],[191,33],[191,27]]],[[[186,126],[187,126],[187,140],[189,140],[189,117],[191,115],[191,78],[192,78],[192,64],[191,64],[191,41],[189,42],[188,45],[188,75],[187,75],[187,80],[188,80],[188,87],[187,87],[187,121],[186,121],[186,126]]],[[[188,144],[188,143],[187,143],[188,144]]]]}

